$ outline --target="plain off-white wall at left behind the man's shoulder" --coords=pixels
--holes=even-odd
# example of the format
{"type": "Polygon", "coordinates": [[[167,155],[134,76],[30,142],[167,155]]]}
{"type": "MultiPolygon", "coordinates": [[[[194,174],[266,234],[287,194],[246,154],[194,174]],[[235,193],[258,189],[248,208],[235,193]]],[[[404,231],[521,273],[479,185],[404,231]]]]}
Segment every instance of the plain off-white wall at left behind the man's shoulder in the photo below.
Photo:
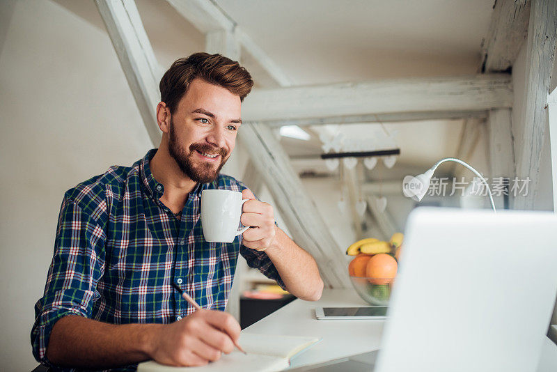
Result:
{"type": "Polygon", "coordinates": [[[0,55],[0,360],[31,371],[65,190],[151,148],[106,33],[52,1],[18,1],[0,55]]]}

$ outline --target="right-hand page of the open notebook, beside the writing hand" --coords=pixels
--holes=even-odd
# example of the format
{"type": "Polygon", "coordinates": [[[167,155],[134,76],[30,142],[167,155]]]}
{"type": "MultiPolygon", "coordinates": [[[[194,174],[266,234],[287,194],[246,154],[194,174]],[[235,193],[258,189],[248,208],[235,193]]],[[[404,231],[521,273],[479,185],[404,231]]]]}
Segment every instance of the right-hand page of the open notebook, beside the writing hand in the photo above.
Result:
{"type": "Polygon", "coordinates": [[[316,337],[282,336],[278,334],[240,333],[238,343],[246,352],[290,359],[320,339],[316,337]]]}

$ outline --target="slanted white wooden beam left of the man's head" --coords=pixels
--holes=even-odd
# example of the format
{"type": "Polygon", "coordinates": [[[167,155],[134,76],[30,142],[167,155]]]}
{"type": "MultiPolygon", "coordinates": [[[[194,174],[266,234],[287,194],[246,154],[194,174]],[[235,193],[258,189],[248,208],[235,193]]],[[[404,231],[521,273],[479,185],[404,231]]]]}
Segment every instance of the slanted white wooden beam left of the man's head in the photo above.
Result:
{"type": "Polygon", "coordinates": [[[95,0],[95,2],[107,26],[152,144],[158,146],[162,134],[157,125],[156,108],[160,101],[158,86],[162,69],[152,51],[135,2],[133,0],[95,0]]]}

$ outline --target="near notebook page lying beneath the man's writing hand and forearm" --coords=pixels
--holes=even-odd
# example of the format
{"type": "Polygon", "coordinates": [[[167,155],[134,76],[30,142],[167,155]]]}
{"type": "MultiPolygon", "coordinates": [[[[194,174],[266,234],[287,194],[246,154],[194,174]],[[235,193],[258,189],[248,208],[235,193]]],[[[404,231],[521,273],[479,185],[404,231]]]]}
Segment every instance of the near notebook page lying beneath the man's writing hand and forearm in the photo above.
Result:
{"type": "Polygon", "coordinates": [[[173,367],[164,366],[157,362],[140,363],[137,367],[138,372],[246,372],[262,371],[276,372],[283,371],[290,366],[288,359],[270,357],[268,355],[258,355],[249,353],[244,355],[242,352],[233,351],[228,355],[222,355],[217,362],[211,362],[201,367],[173,367]]]}

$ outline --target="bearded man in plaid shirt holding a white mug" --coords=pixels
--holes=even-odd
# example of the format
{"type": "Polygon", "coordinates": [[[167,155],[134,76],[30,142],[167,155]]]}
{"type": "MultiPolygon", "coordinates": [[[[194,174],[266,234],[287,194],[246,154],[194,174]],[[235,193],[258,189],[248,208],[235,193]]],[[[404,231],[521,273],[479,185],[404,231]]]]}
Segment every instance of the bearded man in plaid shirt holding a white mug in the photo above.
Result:
{"type": "Polygon", "coordinates": [[[33,355],[53,366],[133,370],[155,359],[199,366],[233,350],[240,325],[224,313],[238,252],[293,295],[318,300],[313,258],[274,224],[273,208],[219,171],[232,153],[251,91],[249,72],[219,54],[175,61],[160,82],[158,149],[66,192],[33,355]],[[241,191],[233,243],[205,242],[203,189],[241,191]],[[171,288],[179,284],[203,308],[171,288]]]}

